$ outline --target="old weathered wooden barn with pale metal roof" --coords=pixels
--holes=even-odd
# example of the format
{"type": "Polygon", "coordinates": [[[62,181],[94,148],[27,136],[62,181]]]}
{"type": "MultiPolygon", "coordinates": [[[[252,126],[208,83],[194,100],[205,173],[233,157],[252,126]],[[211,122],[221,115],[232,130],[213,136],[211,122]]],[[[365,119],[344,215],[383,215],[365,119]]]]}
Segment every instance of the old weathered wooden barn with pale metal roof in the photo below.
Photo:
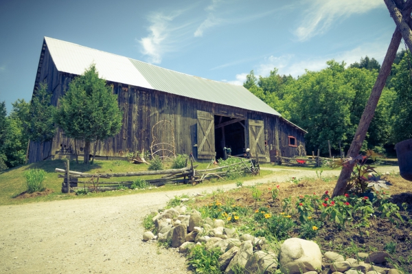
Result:
{"type": "MultiPolygon", "coordinates": [[[[250,148],[260,161],[270,161],[276,152],[284,157],[306,153],[306,131],[242,86],[54,38],[43,41],[34,92],[46,82],[57,106],[69,82],[92,63],[118,95],[124,112],[120,133],[98,141],[96,156],[101,159],[148,151],[161,156],[193,153],[199,161],[209,161],[222,157],[224,147],[231,148],[232,155],[250,148]]],[[[82,146],[58,130],[52,141],[30,142],[29,162],[82,155],[82,146]]]]}

